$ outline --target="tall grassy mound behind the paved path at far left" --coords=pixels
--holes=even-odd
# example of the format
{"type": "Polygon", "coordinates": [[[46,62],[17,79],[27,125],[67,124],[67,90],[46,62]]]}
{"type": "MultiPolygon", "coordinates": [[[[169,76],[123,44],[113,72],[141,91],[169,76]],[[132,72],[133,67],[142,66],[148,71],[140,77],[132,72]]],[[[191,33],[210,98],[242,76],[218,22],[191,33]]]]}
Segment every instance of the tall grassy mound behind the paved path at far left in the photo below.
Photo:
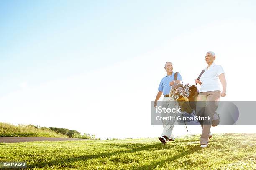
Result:
{"type": "Polygon", "coordinates": [[[15,137],[15,136],[45,136],[45,137],[63,137],[67,136],[55,133],[51,130],[35,128],[32,125],[11,125],[0,122],[0,137],[15,137]]]}

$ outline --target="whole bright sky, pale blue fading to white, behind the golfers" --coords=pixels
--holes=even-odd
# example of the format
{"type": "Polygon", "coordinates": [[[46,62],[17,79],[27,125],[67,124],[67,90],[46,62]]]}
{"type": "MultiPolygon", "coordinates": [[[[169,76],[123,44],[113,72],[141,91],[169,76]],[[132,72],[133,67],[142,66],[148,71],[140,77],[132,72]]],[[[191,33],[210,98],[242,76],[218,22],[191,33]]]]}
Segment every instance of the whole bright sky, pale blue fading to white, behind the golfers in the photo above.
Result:
{"type": "Polygon", "coordinates": [[[0,122],[100,138],[158,136],[150,101],[164,63],[192,84],[209,50],[228,81],[221,100],[253,101],[256,92],[239,91],[256,83],[255,7],[254,0],[2,1],[0,122]]]}

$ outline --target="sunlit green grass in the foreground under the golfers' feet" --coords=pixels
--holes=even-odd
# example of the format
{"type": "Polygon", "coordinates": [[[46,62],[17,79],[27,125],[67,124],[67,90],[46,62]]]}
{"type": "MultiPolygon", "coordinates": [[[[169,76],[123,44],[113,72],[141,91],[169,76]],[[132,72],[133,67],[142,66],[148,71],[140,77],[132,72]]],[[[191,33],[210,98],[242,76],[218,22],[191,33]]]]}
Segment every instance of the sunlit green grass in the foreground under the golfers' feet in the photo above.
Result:
{"type": "Polygon", "coordinates": [[[158,138],[0,143],[0,162],[26,161],[28,169],[256,169],[256,134],[200,135],[166,145],[158,138]]]}

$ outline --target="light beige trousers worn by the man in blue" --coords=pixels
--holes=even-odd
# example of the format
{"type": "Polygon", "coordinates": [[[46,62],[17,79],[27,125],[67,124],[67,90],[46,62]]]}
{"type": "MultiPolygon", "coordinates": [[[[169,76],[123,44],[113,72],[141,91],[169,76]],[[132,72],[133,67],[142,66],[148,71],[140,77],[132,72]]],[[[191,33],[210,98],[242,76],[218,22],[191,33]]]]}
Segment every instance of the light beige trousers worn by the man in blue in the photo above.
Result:
{"type": "MultiPolygon", "coordinates": [[[[162,101],[162,107],[165,107],[165,108],[174,108],[174,99],[172,97],[164,97],[163,101],[162,101]]],[[[176,116],[177,116],[177,113],[161,113],[161,117],[168,117],[168,116],[173,116],[175,117],[175,120],[176,120],[176,116]]],[[[163,126],[164,126],[164,129],[163,129],[163,133],[161,136],[167,136],[168,139],[174,139],[174,136],[172,135],[172,129],[173,129],[173,126],[174,126],[174,122],[175,120],[162,120],[162,123],[163,123],[163,126]]]]}

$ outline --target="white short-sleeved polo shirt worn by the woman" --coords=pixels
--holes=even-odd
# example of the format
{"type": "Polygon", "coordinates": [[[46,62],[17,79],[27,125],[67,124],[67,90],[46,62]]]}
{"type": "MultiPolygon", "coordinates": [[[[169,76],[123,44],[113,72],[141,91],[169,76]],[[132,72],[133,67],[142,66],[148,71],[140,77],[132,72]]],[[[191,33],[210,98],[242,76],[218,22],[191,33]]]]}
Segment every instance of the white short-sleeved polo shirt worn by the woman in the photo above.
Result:
{"type": "Polygon", "coordinates": [[[221,85],[219,75],[224,73],[223,68],[220,65],[216,65],[214,62],[202,74],[200,82],[202,82],[199,92],[221,91],[221,85]]]}

